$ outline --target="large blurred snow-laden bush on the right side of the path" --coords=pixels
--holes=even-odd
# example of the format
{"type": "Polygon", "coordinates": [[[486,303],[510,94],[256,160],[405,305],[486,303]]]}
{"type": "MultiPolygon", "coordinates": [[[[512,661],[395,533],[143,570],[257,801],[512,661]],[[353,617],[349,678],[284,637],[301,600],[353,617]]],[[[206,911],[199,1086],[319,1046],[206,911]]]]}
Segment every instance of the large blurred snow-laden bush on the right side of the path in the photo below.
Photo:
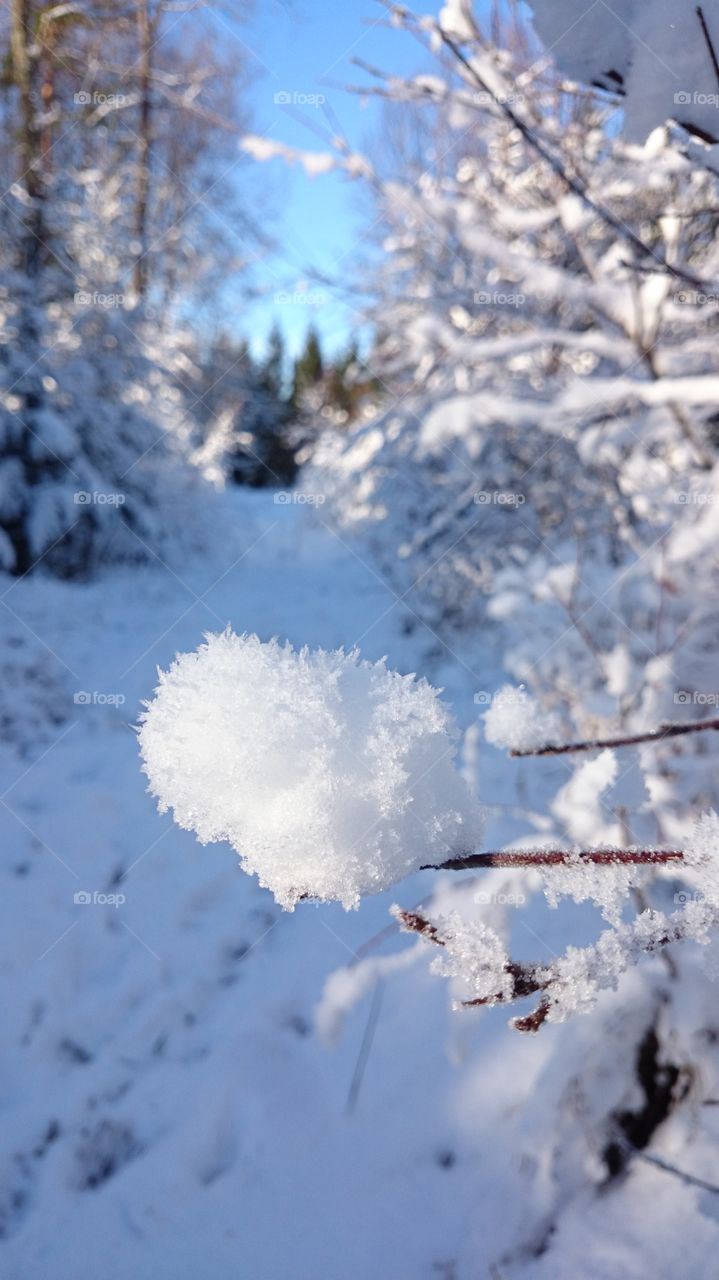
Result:
{"type": "MultiPolygon", "coordinates": [[[[434,41],[438,74],[384,92],[422,157],[441,133],[443,163],[409,152],[372,177],[385,256],[370,364],[390,394],[320,443],[324,518],[449,652],[468,645],[472,664],[481,632],[562,737],[705,714],[716,178],[677,129],[627,143],[604,97],[459,31],[466,10],[441,19],[464,63],[444,27],[398,17],[434,41]]],[[[719,804],[699,740],[647,746],[641,767],[654,838],[719,804]]]]}

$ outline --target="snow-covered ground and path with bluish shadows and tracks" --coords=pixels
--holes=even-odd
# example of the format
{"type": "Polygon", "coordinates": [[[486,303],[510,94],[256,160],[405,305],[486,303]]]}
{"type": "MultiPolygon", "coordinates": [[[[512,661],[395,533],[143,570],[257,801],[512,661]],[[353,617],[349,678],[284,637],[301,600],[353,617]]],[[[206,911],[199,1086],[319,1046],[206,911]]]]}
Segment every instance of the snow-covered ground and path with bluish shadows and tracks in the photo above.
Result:
{"type": "MultiPolygon", "coordinates": [[[[229,846],[159,815],[142,699],[157,666],[228,622],[358,644],[444,686],[470,774],[481,756],[491,847],[527,833],[541,780],[565,768],[478,744],[473,696],[502,684],[496,660],[476,672],[449,652],[321,508],[228,502],[238,547],[179,573],[3,585],[0,1276],[710,1280],[719,1197],[646,1161],[597,1196],[585,1142],[600,1102],[582,1076],[604,1082],[601,1107],[626,1101],[617,1043],[623,1020],[651,1016],[651,988],[623,984],[609,1051],[587,1019],[521,1037],[502,1010],[453,1012],[446,983],[408,963],[330,1046],[315,1021],[329,975],[380,931],[377,955],[407,951],[388,908],[436,877],[354,913],[283,913],[229,846]]],[[[530,904],[522,919],[523,950],[544,959],[595,914],[569,925],[530,904]]],[[[652,1151],[688,1149],[711,1180],[715,1111],[688,1147],[691,1108],[670,1120],[652,1151]]]]}

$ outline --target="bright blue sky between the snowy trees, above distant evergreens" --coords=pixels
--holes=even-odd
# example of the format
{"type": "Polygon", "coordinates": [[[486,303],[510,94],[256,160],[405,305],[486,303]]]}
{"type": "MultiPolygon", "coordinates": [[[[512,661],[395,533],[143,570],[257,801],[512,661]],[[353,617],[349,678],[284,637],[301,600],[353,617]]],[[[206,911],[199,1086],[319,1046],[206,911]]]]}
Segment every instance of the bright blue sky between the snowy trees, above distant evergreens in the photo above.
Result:
{"type": "MultiPolygon", "coordinates": [[[[423,13],[439,8],[435,0],[423,0],[420,6],[423,13]]],[[[394,73],[411,73],[425,60],[411,36],[388,29],[385,22],[386,10],[376,0],[339,0],[334,5],[328,0],[267,0],[257,5],[249,22],[225,27],[223,19],[226,38],[243,42],[257,72],[251,95],[252,131],[302,150],[326,150],[311,129],[315,122],[329,129],[326,115],[321,105],[306,101],[324,95],[351,146],[363,150],[379,128],[380,106],[376,99],[360,99],[340,87],[368,83],[352,58],[394,73]],[[276,95],[293,96],[296,114],[278,102],[276,95]],[[297,113],[306,120],[297,119],[297,113]]],[[[290,351],[297,349],[312,320],[326,348],[336,349],[356,328],[357,312],[313,284],[307,268],[348,276],[366,225],[357,184],[339,174],[307,178],[301,168],[288,169],[279,159],[264,164],[262,170],[257,177],[266,183],[269,221],[283,242],[283,253],[261,268],[266,300],[246,312],[247,337],[261,349],[278,319],[290,351]],[[292,298],[303,282],[313,305],[276,301],[278,293],[292,298]]]]}

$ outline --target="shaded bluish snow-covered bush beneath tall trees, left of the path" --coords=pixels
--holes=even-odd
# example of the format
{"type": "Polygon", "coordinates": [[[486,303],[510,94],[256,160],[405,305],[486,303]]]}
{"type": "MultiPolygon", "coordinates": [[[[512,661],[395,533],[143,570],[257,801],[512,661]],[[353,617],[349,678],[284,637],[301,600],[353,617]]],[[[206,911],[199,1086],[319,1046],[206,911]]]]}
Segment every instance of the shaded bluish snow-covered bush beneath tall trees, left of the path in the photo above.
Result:
{"type": "Polygon", "coordinates": [[[173,353],[119,294],[0,285],[3,567],[87,576],[175,561],[212,499],[191,466],[194,422],[173,353]],[[119,301],[118,301],[119,300],[119,301]],[[165,362],[164,356],[168,356],[165,362]]]}

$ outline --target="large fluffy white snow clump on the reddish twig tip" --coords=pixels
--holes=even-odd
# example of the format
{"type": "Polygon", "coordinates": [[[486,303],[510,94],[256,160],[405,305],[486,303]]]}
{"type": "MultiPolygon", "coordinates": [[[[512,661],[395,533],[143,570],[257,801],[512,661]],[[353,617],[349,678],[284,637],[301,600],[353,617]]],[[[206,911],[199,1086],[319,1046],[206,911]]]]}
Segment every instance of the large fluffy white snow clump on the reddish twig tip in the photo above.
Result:
{"type": "Polygon", "coordinates": [[[160,675],[139,730],[160,809],[228,840],[292,909],[357,906],[423,863],[476,847],[457,731],[426,681],[229,628],[160,675]]]}

